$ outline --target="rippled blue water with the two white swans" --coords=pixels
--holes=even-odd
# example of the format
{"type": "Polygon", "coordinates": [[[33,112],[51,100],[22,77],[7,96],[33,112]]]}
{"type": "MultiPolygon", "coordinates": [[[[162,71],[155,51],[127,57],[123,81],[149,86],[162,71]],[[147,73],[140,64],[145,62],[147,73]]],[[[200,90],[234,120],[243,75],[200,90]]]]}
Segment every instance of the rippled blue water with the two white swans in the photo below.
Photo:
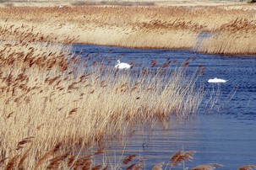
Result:
{"type": "Polygon", "coordinates": [[[197,151],[193,161],[186,162],[186,167],[214,162],[226,166],[217,169],[237,169],[245,164],[256,164],[256,56],[220,56],[193,50],[127,49],[100,45],[74,45],[73,52],[83,58],[90,54],[91,57],[96,56],[94,60],[109,61],[109,66],[114,66],[118,59],[128,63],[133,61],[134,70],[150,67],[153,60],[161,66],[168,58],[173,67],[181,65],[188,57],[196,58],[188,66],[191,72],[200,63],[205,66],[198,83],[204,86],[207,94],[196,117],[186,122],[171,119],[165,126],[155,122],[151,128],[137,127],[125,145],[117,141],[108,143],[107,157],[117,159],[123,152],[123,157],[130,154],[147,156],[145,169],[150,169],[156,163],[167,163],[175,151],[184,148],[185,151],[197,151]],[[214,77],[228,82],[207,82],[214,77]]]}

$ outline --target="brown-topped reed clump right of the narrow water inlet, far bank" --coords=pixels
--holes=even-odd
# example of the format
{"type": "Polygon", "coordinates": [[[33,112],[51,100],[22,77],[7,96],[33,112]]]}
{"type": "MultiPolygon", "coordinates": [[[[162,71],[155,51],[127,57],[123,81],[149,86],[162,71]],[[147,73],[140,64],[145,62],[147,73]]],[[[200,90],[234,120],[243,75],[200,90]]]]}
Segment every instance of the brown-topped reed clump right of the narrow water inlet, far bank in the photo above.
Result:
{"type": "Polygon", "coordinates": [[[256,20],[235,19],[223,24],[208,39],[201,42],[199,51],[219,54],[255,54],[256,20]]]}

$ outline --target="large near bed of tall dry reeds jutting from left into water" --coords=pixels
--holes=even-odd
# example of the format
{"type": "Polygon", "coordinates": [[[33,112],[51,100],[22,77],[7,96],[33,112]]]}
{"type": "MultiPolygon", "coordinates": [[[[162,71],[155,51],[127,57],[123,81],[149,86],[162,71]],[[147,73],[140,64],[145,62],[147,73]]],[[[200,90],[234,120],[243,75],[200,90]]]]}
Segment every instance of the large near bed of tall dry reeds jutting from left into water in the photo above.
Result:
{"type": "Polygon", "coordinates": [[[90,156],[80,156],[81,147],[125,135],[133,123],[171,114],[186,119],[201,103],[204,92],[195,81],[204,68],[185,74],[193,59],[176,68],[171,67],[176,61],[166,60],[156,72],[157,61],[138,72],[120,72],[114,61],[74,56],[71,46],[52,44],[52,37],[34,31],[40,30],[9,25],[8,19],[0,27],[0,166],[5,169],[88,169],[90,156]]]}

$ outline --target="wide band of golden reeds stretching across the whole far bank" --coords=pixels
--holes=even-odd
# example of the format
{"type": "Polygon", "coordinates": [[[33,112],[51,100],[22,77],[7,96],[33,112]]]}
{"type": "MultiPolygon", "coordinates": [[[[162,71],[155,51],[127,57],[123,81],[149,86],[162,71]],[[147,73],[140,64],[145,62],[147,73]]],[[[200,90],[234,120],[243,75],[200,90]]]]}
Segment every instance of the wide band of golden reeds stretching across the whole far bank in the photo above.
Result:
{"type": "Polygon", "coordinates": [[[84,4],[61,8],[0,8],[3,16],[0,25],[22,25],[24,29],[15,34],[30,29],[30,35],[36,40],[44,36],[46,40],[60,43],[195,48],[221,54],[256,53],[254,4],[193,8],[84,4]],[[199,38],[201,33],[210,36],[199,38]]]}

